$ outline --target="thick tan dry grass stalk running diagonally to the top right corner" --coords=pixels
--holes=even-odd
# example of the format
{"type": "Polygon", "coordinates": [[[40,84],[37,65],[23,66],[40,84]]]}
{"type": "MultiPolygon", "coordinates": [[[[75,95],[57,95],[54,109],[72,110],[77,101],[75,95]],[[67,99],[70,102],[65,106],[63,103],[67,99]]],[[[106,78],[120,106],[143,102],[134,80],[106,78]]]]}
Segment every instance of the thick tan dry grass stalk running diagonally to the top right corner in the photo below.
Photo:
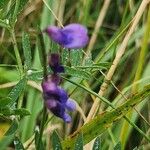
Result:
{"type": "MultiPolygon", "coordinates": [[[[132,33],[134,32],[136,26],[138,25],[138,22],[140,21],[140,18],[143,14],[143,12],[145,11],[145,8],[146,6],[148,5],[148,3],[150,2],[150,0],[143,0],[141,2],[141,5],[135,15],[135,17],[133,18],[133,23],[131,25],[131,27],[129,28],[128,32],[126,33],[124,39],[123,39],[123,42],[121,43],[117,53],[116,53],[116,57],[104,79],[104,82],[103,84],[101,85],[100,87],[100,90],[99,90],[99,95],[100,96],[103,96],[105,94],[105,91],[107,90],[107,87],[108,87],[108,81],[110,81],[112,79],[112,76],[118,66],[118,63],[120,62],[123,54],[125,53],[125,50],[126,50],[126,47],[127,47],[127,44],[128,44],[128,41],[132,35],[132,33]]],[[[88,114],[88,117],[87,117],[87,120],[86,120],[86,123],[89,122],[95,115],[97,109],[99,107],[99,98],[96,98],[93,105],[92,105],[92,108],[88,114]]]]}

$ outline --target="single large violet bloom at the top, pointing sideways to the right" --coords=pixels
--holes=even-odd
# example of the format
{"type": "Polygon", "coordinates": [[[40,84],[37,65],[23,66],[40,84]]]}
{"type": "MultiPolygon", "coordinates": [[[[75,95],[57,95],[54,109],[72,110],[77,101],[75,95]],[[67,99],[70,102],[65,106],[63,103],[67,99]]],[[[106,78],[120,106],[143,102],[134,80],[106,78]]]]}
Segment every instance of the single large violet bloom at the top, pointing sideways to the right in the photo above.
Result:
{"type": "Polygon", "coordinates": [[[45,31],[53,41],[69,49],[83,48],[89,40],[87,29],[80,24],[70,24],[62,29],[49,26],[45,31]]]}

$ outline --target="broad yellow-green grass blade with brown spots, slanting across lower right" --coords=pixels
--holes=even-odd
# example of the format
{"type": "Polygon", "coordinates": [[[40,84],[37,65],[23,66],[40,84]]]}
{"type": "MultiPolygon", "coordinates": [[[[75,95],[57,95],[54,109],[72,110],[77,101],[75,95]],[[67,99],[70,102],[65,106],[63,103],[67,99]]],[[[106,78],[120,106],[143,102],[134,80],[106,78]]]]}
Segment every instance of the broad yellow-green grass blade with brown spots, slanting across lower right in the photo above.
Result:
{"type": "Polygon", "coordinates": [[[70,135],[66,140],[62,141],[63,149],[71,150],[77,136],[83,133],[84,144],[90,142],[95,137],[106,131],[114,121],[124,117],[129,111],[133,109],[133,106],[140,103],[146,97],[150,96],[150,85],[146,86],[143,91],[134,95],[128,99],[121,106],[109,111],[104,114],[97,115],[90,122],[82,126],[77,132],[70,135]]]}

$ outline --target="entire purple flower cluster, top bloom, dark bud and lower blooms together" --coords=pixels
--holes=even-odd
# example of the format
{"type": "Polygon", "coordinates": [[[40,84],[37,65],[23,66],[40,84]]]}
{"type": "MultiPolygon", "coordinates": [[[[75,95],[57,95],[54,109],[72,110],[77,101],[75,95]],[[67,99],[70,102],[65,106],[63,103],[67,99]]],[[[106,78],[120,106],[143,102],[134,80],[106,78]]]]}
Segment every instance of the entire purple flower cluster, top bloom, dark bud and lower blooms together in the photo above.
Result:
{"type": "MultiPolygon", "coordinates": [[[[50,38],[68,49],[83,48],[88,43],[87,29],[80,24],[70,24],[64,28],[49,26],[46,30],[50,38]]],[[[53,53],[49,56],[49,66],[53,73],[42,82],[43,97],[46,107],[65,122],[71,122],[71,117],[66,112],[75,110],[75,103],[69,99],[67,92],[59,86],[61,77],[59,73],[64,72],[60,65],[59,54],[53,53]]]]}

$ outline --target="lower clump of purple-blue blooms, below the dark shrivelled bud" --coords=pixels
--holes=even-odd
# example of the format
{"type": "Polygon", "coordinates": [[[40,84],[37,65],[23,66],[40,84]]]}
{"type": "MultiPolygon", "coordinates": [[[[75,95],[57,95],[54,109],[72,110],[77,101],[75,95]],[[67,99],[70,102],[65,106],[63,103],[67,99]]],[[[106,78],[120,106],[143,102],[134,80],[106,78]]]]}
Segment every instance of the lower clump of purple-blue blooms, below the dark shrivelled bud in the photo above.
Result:
{"type": "Polygon", "coordinates": [[[47,80],[42,82],[43,97],[46,107],[54,115],[69,123],[71,122],[71,117],[66,113],[66,109],[73,111],[76,106],[75,103],[68,98],[67,92],[58,86],[59,80],[59,76],[51,75],[47,80]],[[57,77],[58,79],[56,79],[57,77]]]}

